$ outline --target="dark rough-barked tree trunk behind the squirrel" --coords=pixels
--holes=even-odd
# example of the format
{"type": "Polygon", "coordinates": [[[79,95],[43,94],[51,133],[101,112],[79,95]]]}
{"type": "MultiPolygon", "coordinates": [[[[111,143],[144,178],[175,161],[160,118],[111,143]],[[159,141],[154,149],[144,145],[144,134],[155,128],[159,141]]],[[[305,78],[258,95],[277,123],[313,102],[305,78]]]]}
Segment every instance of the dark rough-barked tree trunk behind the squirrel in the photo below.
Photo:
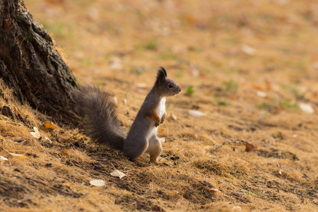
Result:
{"type": "Polygon", "coordinates": [[[23,0],[0,0],[0,77],[21,102],[68,122],[76,78],[23,0]]]}

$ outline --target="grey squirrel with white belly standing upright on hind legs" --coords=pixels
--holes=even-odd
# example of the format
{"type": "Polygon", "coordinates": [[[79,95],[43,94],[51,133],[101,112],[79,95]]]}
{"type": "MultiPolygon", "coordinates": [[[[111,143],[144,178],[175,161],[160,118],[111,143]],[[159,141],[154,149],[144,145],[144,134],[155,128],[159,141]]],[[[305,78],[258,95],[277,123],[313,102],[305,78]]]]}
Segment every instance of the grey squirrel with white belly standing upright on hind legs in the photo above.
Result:
{"type": "Polygon", "coordinates": [[[155,85],[146,96],[127,135],[120,127],[110,93],[96,87],[79,86],[74,98],[84,131],[91,139],[122,151],[129,160],[149,153],[151,162],[156,162],[163,150],[157,131],[167,114],[165,98],[180,91],[177,83],[167,78],[167,71],[160,67],[155,85]]]}

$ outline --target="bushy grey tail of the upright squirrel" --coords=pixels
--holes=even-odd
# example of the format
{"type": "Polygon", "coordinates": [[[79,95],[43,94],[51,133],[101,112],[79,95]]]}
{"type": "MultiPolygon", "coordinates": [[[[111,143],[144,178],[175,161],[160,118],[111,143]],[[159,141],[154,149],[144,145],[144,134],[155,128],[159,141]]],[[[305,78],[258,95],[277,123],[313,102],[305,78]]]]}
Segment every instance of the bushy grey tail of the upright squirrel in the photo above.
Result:
{"type": "Polygon", "coordinates": [[[126,134],[117,119],[112,96],[96,87],[80,86],[74,98],[86,134],[94,141],[122,151],[126,134]]]}

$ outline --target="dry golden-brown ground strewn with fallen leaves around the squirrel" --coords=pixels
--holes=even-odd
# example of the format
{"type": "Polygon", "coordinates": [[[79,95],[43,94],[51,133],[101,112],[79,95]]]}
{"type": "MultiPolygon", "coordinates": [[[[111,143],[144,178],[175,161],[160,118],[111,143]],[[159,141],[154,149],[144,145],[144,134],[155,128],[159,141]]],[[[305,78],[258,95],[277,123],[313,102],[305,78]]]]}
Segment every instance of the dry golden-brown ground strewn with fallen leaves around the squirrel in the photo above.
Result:
{"type": "Polygon", "coordinates": [[[1,83],[1,212],[317,211],[317,1],[25,4],[78,81],[117,98],[125,131],[159,66],[182,93],[167,99],[160,164],[133,163],[77,129],[44,126],[49,117],[1,83]],[[256,149],[213,150],[232,139],[256,149]]]}

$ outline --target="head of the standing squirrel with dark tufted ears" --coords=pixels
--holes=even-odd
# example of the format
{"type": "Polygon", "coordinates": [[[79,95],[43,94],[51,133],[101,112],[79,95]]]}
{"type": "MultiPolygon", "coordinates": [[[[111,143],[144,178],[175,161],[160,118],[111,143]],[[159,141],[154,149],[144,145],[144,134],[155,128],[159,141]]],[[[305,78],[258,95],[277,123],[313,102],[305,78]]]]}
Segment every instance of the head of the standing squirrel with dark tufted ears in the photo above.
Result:
{"type": "Polygon", "coordinates": [[[180,93],[181,88],[175,81],[167,78],[167,71],[160,67],[157,72],[157,79],[155,80],[155,88],[160,93],[161,96],[167,97],[172,95],[177,95],[180,93]]]}

